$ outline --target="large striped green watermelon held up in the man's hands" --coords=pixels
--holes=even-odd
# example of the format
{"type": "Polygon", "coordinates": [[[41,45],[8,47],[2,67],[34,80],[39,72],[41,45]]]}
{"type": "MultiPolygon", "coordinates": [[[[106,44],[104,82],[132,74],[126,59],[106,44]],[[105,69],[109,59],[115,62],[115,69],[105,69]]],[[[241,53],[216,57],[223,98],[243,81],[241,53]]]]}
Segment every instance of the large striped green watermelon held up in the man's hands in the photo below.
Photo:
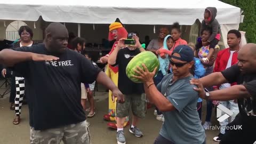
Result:
{"type": "Polygon", "coordinates": [[[126,66],[126,75],[134,83],[142,83],[140,79],[133,77],[133,75],[138,76],[138,74],[134,71],[134,69],[137,69],[137,66],[145,70],[142,66],[142,63],[146,65],[146,67],[148,68],[148,71],[150,72],[153,72],[154,69],[157,67],[155,76],[157,75],[157,72],[160,68],[158,58],[153,52],[144,51],[135,55],[135,57],[133,57],[132,60],[126,66]]]}

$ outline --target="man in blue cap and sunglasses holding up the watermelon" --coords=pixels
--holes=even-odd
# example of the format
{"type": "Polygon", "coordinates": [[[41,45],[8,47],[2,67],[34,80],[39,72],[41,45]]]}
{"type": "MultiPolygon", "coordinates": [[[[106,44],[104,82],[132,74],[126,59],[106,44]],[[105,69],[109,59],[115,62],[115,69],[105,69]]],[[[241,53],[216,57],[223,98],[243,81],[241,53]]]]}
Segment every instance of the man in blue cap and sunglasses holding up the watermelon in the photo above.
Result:
{"type": "Polygon", "coordinates": [[[190,84],[194,76],[191,69],[194,65],[194,52],[187,45],[179,45],[172,52],[170,63],[172,74],[167,74],[155,86],[153,77],[156,69],[150,73],[145,65],[145,70],[137,67],[135,70],[144,82],[148,99],[163,111],[164,124],[155,144],[179,143],[205,143],[205,132],[199,119],[196,104],[198,93],[193,91],[195,85],[190,84]]]}

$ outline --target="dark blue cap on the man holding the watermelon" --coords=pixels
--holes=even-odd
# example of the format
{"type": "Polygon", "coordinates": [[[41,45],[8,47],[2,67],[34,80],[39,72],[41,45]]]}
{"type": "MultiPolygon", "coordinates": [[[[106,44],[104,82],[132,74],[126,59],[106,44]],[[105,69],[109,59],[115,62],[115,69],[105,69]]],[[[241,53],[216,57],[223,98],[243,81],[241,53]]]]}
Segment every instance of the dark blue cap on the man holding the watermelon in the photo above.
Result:
{"type": "Polygon", "coordinates": [[[175,47],[175,49],[172,51],[172,56],[171,58],[181,60],[181,61],[193,61],[194,60],[194,52],[191,49],[191,47],[187,45],[179,45],[175,47]],[[180,55],[179,57],[175,57],[173,53],[178,53],[180,55]]]}

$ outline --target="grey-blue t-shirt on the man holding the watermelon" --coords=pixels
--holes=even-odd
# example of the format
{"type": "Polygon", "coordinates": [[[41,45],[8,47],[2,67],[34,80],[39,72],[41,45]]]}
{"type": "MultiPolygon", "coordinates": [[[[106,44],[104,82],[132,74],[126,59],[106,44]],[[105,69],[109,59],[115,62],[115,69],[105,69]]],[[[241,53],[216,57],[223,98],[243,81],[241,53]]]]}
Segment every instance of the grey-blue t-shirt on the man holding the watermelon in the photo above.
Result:
{"type": "Polygon", "coordinates": [[[157,89],[176,108],[163,113],[164,124],[160,134],[175,144],[202,144],[206,136],[196,109],[198,93],[193,90],[196,86],[189,83],[193,76],[175,82],[172,82],[172,77],[172,74],[166,75],[157,85],[157,89]]]}

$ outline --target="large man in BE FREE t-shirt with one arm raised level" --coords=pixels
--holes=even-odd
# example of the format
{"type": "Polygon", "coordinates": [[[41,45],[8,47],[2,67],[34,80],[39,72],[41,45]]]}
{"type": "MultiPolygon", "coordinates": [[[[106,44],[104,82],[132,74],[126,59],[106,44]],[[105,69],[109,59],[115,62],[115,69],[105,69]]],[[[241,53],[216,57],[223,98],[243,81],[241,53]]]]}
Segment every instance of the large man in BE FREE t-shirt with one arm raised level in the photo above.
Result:
{"type": "Polygon", "coordinates": [[[101,69],[67,49],[68,30],[51,23],[45,43],[0,52],[0,63],[13,67],[26,78],[30,143],[90,143],[81,105],[81,83],[95,80],[113,92],[119,102],[123,94],[101,69]],[[50,56],[54,55],[54,56],[50,56]]]}

